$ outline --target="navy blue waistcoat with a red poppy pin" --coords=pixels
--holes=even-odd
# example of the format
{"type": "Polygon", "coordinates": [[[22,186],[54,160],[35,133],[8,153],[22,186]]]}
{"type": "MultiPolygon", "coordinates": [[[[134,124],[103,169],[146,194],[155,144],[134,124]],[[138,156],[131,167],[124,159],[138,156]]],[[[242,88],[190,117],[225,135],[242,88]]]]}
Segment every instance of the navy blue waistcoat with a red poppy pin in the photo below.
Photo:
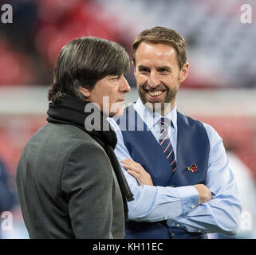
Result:
{"type": "MultiPolygon", "coordinates": [[[[124,115],[116,121],[120,126],[132,159],[140,163],[152,177],[154,186],[188,186],[206,184],[210,143],[206,129],[198,120],[177,112],[177,151],[176,171],[171,171],[166,156],[160,150],[155,136],[130,105],[124,115]],[[197,171],[188,171],[195,164],[197,171]]],[[[131,239],[169,239],[169,238],[207,238],[206,234],[188,233],[186,230],[168,227],[167,221],[133,222],[125,226],[126,238],[131,239]]]]}

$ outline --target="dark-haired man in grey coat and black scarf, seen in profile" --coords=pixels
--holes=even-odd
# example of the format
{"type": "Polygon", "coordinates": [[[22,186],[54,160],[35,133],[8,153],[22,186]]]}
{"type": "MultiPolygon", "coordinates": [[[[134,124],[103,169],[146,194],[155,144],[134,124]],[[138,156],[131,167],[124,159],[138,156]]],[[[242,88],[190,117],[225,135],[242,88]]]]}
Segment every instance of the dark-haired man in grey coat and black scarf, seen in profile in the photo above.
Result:
{"type": "Polygon", "coordinates": [[[123,113],[128,69],[128,54],[112,41],[83,37],[61,49],[48,123],[26,144],[17,169],[30,238],[124,238],[132,193],[105,118],[123,113]]]}

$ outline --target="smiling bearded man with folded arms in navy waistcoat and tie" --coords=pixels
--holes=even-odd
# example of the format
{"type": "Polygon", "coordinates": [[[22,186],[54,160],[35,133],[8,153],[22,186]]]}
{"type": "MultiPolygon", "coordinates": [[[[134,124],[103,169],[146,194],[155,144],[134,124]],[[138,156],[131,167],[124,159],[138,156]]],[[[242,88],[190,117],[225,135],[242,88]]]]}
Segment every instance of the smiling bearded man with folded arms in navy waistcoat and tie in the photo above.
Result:
{"type": "Polygon", "coordinates": [[[177,111],[189,66],[183,37],[146,29],[133,42],[132,61],[140,98],[109,120],[135,198],[128,202],[126,237],[235,234],[242,208],[223,141],[210,125],[177,111]]]}

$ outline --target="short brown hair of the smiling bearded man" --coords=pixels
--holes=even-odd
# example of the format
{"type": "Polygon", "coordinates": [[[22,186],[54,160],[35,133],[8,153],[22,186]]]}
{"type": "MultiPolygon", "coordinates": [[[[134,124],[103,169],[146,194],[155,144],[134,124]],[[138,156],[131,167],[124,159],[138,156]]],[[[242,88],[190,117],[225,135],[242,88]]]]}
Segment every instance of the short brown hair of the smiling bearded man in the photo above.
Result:
{"type": "Polygon", "coordinates": [[[138,49],[142,41],[150,42],[153,44],[171,45],[176,49],[177,61],[179,69],[182,69],[183,65],[187,61],[186,46],[184,38],[173,29],[167,29],[162,26],[155,26],[152,29],[145,29],[140,32],[132,44],[132,61],[136,65],[136,50],[138,49]]]}

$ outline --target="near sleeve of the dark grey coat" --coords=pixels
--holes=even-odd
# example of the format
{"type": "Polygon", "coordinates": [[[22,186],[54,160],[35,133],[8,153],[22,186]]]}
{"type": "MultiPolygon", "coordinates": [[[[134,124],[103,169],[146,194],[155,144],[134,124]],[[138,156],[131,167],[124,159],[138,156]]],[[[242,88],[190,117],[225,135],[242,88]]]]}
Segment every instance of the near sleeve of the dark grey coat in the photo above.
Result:
{"type": "Polygon", "coordinates": [[[101,147],[82,143],[70,152],[61,186],[76,238],[112,238],[112,178],[101,147]]]}

